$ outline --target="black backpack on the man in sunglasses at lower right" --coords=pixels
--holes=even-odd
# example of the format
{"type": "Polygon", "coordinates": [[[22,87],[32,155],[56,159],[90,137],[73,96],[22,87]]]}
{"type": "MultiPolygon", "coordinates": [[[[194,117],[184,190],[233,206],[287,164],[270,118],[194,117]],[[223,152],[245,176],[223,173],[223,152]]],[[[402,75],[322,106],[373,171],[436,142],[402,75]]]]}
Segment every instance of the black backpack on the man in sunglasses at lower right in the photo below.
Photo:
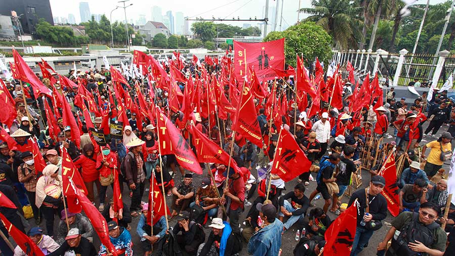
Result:
{"type": "Polygon", "coordinates": [[[436,229],[440,227],[439,224],[433,222],[428,226],[424,226],[418,224],[418,220],[419,214],[413,213],[412,220],[401,228],[397,239],[392,239],[390,248],[394,254],[406,256],[420,255],[420,252],[411,250],[407,244],[409,242],[419,241],[428,247],[433,243],[436,229]]]}

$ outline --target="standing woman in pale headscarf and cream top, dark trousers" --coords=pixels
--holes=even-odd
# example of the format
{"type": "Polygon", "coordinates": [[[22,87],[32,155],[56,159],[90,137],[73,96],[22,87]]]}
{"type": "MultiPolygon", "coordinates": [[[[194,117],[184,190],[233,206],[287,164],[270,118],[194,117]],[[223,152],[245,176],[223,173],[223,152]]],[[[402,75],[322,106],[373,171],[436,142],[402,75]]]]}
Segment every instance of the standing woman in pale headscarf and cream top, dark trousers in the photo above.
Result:
{"type": "Polygon", "coordinates": [[[46,229],[49,236],[54,235],[54,217],[63,210],[62,176],[59,167],[48,165],[42,170],[42,176],[36,182],[35,204],[46,220],[46,229]]]}

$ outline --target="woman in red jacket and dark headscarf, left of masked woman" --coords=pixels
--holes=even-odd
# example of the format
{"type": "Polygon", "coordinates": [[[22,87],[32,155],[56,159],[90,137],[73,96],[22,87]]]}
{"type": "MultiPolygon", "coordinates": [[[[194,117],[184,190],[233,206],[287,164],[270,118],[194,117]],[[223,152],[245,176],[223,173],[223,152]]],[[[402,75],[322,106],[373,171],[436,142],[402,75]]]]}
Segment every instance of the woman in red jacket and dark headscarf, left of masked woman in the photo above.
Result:
{"type": "Polygon", "coordinates": [[[82,180],[87,188],[87,198],[94,202],[93,184],[97,185],[98,194],[100,194],[101,184],[99,181],[100,172],[97,170],[97,156],[93,144],[85,144],[82,148],[82,155],[74,159],[74,166],[82,169],[82,180]]]}

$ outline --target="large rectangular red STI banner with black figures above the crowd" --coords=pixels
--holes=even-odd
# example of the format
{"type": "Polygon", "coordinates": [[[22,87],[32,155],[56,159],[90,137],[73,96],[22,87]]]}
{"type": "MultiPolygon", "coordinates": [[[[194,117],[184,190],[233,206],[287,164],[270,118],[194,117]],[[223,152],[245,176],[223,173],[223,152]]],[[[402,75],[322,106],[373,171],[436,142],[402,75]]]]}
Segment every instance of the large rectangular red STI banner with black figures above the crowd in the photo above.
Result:
{"type": "Polygon", "coordinates": [[[271,80],[276,69],[284,69],[284,38],[269,42],[245,43],[234,41],[234,73],[237,81],[243,81],[248,66],[254,67],[259,80],[271,80]]]}

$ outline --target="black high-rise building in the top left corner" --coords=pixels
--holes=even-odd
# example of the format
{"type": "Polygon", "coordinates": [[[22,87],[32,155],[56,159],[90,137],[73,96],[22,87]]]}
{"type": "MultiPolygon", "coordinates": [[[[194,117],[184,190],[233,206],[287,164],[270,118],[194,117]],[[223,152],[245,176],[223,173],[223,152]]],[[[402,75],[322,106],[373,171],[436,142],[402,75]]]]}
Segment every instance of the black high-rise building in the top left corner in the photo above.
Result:
{"type": "Polygon", "coordinates": [[[41,18],[54,25],[49,0],[1,0],[0,15],[11,17],[11,11],[15,11],[18,16],[22,15],[20,22],[25,34],[33,33],[38,19],[41,18]]]}

